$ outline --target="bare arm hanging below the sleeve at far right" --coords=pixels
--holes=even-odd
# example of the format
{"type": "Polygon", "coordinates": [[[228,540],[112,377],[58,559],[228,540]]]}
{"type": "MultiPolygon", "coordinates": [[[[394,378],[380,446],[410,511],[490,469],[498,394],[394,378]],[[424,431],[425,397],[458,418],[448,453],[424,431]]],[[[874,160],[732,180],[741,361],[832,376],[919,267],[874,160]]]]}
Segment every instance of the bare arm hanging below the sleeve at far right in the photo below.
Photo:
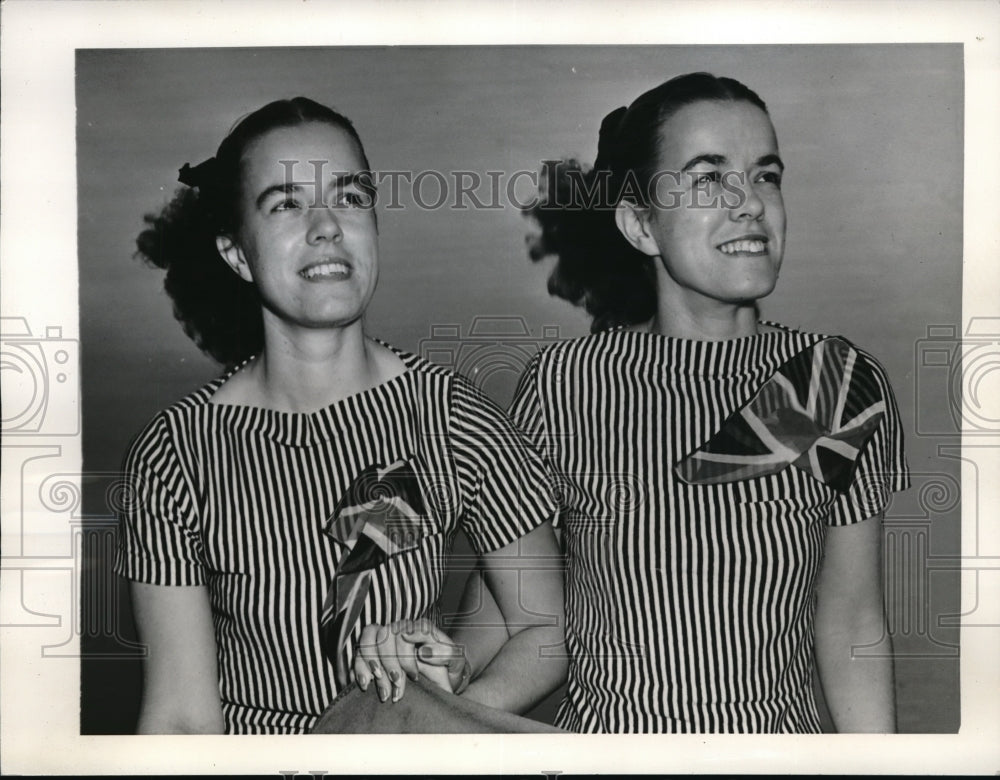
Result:
{"type": "Polygon", "coordinates": [[[892,643],[882,594],[882,518],[827,528],[817,585],[816,661],[839,732],[895,733],[892,643]],[[853,649],[879,645],[878,657],[853,649]]]}

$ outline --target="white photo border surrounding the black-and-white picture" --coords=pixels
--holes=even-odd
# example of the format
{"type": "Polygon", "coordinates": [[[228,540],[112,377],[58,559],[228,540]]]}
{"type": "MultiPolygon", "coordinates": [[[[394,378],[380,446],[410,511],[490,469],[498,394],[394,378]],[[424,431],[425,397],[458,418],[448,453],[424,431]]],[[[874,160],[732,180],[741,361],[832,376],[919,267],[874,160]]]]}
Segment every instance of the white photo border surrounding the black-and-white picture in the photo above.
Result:
{"type": "MultiPolygon", "coordinates": [[[[384,44],[962,43],[965,51],[965,277],[963,327],[995,317],[1000,300],[1000,6],[994,2],[28,2],[7,0],[2,24],[3,222],[0,288],[5,315],[76,322],[74,56],[78,48],[348,46],[384,44]],[[609,8],[613,7],[613,12],[609,8]],[[571,10],[570,10],[571,9],[571,10]],[[41,184],[40,184],[41,182],[41,184]],[[58,283],[54,284],[54,281],[58,283]]],[[[998,320],[1000,322],[1000,320],[998,320]]],[[[78,325],[77,325],[78,327],[78,325]]],[[[79,332],[64,328],[64,338],[79,332]]],[[[79,372],[76,373],[79,376],[79,372]]],[[[4,442],[5,445],[12,444],[4,442]]],[[[984,508],[1000,487],[1000,441],[976,442],[963,488],[984,508]]],[[[60,468],[81,472],[79,437],[60,468]]],[[[5,510],[22,490],[3,477],[5,510]]],[[[4,513],[5,520],[7,512],[4,513]]],[[[25,519],[27,522],[27,518],[25,519]]],[[[964,517],[964,528],[971,522],[964,517]]],[[[5,523],[6,526],[6,523],[5,523]]],[[[24,570],[11,552],[22,529],[3,530],[5,614],[24,570]]],[[[44,659],[35,633],[0,629],[0,702],[8,773],[995,773],[1000,770],[1000,529],[963,533],[962,727],[956,735],[97,737],[79,734],[79,664],[44,659]],[[34,649],[33,649],[34,648],[34,649]],[[392,740],[391,750],[386,749],[392,740]]],[[[66,540],[52,540],[64,545],[66,540]]],[[[54,553],[31,571],[38,607],[70,620],[76,587],[54,553]],[[55,562],[55,563],[53,563],[55,562]],[[51,565],[50,565],[51,564],[51,565]]],[[[44,558],[44,556],[43,556],[44,558]]],[[[45,617],[40,616],[40,620],[45,617]]]]}

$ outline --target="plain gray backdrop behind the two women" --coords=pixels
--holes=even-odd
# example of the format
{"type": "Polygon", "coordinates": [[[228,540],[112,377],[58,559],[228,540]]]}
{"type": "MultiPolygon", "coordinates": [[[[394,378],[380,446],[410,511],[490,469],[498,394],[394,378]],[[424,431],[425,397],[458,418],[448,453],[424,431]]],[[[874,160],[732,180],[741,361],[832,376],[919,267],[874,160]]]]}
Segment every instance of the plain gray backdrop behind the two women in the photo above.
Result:
{"type": "MultiPolygon", "coordinates": [[[[958,441],[949,361],[961,322],[960,45],[79,51],[85,471],[116,470],[153,414],[217,373],[172,319],[162,273],[131,256],[142,214],[166,202],[180,165],[214,153],[243,114],[305,95],[354,120],[378,170],[509,177],[567,154],[593,160],[605,113],[692,70],[755,89],[788,166],[785,264],[764,315],[843,334],[892,379],[914,472],[886,521],[899,723],[956,731],[958,575],[934,559],[960,541],[958,460],[939,456],[958,441]]],[[[423,201],[433,202],[425,179],[423,201]]],[[[522,180],[514,194],[529,189],[522,180]]],[[[528,262],[529,225],[505,192],[500,208],[464,210],[418,208],[409,187],[399,192],[403,208],[379,214],[369,332],[478,368],[506,402],[526,356],[586,333],[587,319],[547,295],[549,266],[528,262]]],[[[490,200],[488,185],[477,193],[490,200]]],[[[84,489],[85,516],[106,529],[105,493],[87,480],[84,489]]],[[[84,574],[84,733],[131,730],[138,701],[134,628],[102,544],[88,548],[84,574]],[[105,614],[94,603],[116,598],[107,617],[87,621],[88,610],[105,614]]]]}

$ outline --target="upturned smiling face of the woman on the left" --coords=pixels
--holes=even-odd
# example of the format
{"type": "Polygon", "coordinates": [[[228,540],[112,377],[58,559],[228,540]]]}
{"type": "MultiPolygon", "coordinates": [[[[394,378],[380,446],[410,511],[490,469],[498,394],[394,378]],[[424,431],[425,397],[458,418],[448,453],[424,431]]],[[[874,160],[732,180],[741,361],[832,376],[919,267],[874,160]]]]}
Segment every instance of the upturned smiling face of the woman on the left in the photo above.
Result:
{"type": "Polygon", "coordinates": [[[364,313],[378,280],[370,190],[354,140],[322,122],[271,130],[241,163],[240,227],[220,251],[252,281],[269,317],[305,328],[341,327],[364,313]]]}

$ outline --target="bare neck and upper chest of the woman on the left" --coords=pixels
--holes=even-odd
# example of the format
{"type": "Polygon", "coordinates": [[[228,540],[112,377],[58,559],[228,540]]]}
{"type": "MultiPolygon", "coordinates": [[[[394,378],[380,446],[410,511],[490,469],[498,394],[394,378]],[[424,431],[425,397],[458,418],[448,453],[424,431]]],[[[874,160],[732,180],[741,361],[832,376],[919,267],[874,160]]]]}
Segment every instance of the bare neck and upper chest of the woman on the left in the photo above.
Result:
{"type": "Polygon", "coordinates": [[[261,354],[217,396],[219,402],[313,412],[405,370],[394,353],[365,337],[360,320],[343,328],[265,327],[261,354]]]}

